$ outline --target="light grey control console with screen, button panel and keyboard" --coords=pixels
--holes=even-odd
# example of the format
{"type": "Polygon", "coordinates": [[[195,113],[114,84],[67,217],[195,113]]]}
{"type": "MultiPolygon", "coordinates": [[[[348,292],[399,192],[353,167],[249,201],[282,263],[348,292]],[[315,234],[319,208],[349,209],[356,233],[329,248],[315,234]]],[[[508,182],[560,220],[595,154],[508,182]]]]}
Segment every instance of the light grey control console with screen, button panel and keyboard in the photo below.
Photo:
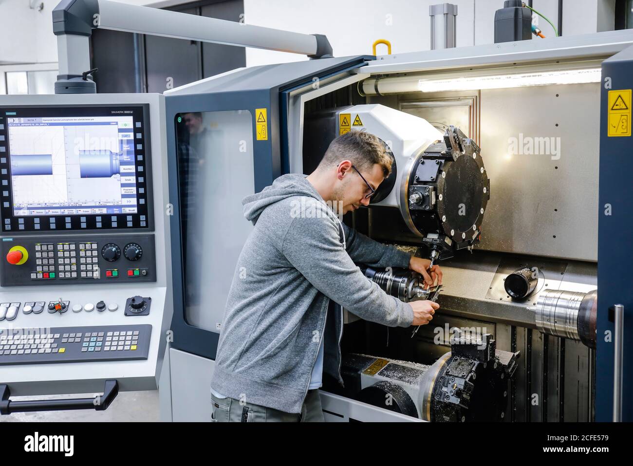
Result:
{"type": "Polygon", "coordinates": [[[163,112],[160,94],[0,96],[0,413],[58,401],[12,396],[90,393],[77,403],[103,410],[156,389],[172,317],[163,112]]]}

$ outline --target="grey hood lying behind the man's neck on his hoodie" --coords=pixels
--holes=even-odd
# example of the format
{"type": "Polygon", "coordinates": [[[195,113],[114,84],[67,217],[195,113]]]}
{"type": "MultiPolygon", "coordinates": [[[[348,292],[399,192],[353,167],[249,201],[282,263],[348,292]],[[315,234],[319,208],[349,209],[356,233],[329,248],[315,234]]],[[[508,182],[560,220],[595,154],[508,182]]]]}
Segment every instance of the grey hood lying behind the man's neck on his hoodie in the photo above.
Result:
{"type": "Polygon", "coordinates": [[[314,186],[306,179],[308,175],[302,173],[287,173],[277,178],[272,185],[266,186],[260,192],[242,199],[244,217],[256,224],[266,207],[292,196],[310,196],[323,202],[323,198],[314,186]]]}

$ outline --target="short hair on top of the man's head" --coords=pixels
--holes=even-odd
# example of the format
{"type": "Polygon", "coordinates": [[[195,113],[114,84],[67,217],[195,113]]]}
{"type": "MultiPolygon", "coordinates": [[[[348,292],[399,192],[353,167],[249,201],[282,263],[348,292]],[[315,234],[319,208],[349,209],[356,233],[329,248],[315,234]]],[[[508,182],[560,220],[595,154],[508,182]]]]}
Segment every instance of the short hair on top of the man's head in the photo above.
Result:
{"type": "Polygon", "coordinates": [[[332,167],[342,160],[350,160],[354,167],[371,170],[376,163],[382,167],[384,177],[391,173],[393,159],[382,140],[366,131],[351,130],[330,142],[319,167],[332,167]]]}

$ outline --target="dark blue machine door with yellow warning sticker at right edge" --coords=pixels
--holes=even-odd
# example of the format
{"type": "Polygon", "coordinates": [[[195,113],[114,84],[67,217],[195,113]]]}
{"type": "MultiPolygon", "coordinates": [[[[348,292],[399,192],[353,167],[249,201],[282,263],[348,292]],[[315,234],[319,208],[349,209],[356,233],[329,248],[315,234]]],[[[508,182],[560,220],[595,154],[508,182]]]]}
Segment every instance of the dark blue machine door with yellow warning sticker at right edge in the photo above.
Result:
{"type": "Polygon", "coordinates": [[[621,420],[631,421],[633,400],[624,394],[633,383],[633,47],[603,62],[602,79],[596,421],[617,420],[620,413],[621,420]]]}

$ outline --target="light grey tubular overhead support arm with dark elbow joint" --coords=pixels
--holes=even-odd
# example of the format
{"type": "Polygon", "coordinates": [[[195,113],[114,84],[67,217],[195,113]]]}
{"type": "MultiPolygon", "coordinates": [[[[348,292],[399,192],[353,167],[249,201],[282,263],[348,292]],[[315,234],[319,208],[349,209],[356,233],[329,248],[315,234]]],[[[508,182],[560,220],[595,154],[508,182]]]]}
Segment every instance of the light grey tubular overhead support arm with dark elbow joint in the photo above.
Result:
{"type": "Polygon", "coordinates": [[[60,56],[56,93],[96,92],[90,77],[82,78],[90,68],[88,43],[94,28],[298,53],[310,58],[332,56],[332,47],[321,34],[299,34],[111,0],[62,0],[53,10],[53,32],[58,36],[60,56]]]}

